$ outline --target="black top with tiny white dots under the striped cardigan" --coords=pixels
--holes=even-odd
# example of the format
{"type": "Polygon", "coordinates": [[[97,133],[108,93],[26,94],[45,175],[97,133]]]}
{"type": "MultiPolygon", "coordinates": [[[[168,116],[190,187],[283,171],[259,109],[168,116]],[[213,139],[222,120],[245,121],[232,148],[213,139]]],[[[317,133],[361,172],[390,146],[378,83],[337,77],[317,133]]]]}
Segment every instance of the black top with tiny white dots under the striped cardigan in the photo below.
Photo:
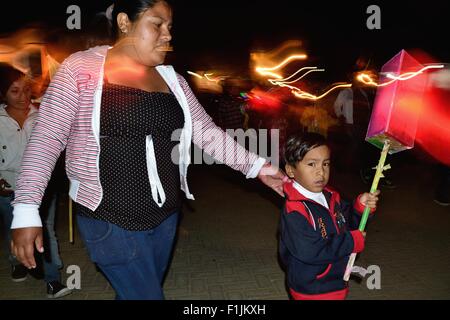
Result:
{"type": "MultiPolygon", "coordinates": [[[[100,182],[103,198],[95,211],[76,204],[78,214],[132,231],[150,230],[181,208],[180,173],[172,162],[172,132],[184,114],[173,93],[148,92],[108,83],[100,111],[100,182]],[[146,136],[151,135],[166,201],[152,198],[146,136]]],[[[178,135],[179,136],[179,135],[178,135]]]]}

